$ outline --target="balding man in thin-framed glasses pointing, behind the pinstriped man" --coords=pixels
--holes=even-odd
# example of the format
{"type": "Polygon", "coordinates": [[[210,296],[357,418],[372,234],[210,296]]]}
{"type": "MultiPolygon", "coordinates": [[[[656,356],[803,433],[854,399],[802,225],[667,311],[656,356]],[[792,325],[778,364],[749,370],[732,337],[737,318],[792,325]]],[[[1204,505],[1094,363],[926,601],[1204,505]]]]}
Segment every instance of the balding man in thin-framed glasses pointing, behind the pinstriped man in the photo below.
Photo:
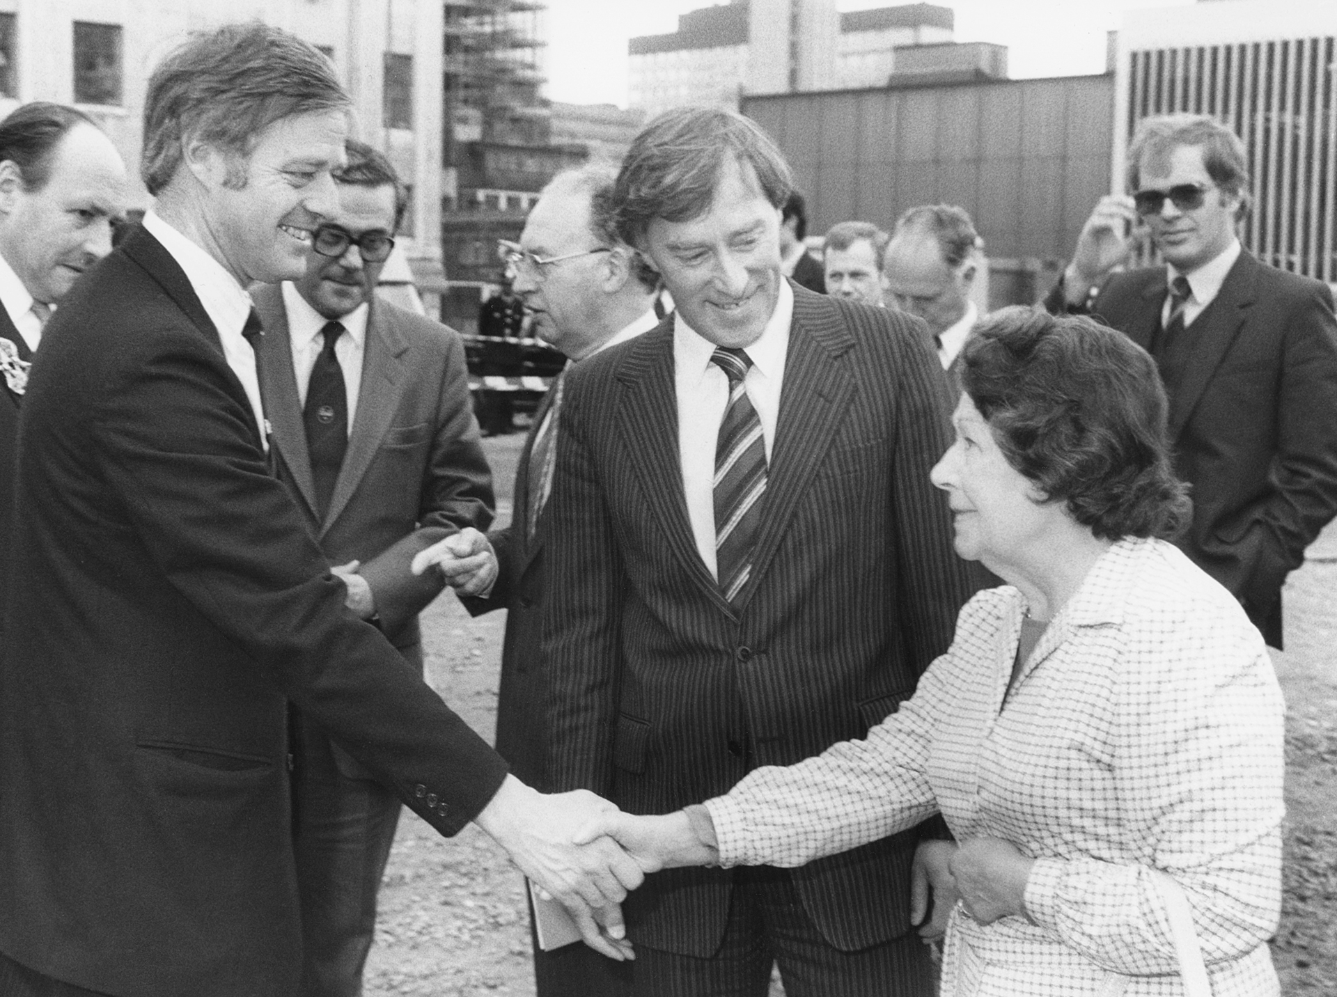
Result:
{"type": "MultiPolygon", "coordinates": [[[[654,329],[660,318],[658,275],[618,238],[615,179],[600,166],[559,174],[525,219],[519,245],[505,246],[512,287],[533,317],[535,333],[572,365],[654,329]]],[[[544,396],[520,452],[511,523],[487,537],[461,531],[416,561],[420,571],[437,564],[465,591],[491,585],[485,597],[464,600],[471,613],[507,609],[496,748],[511,771],[539,789],[547,782],[550,744],[548,671],[539,647],[548,599],[545,509],[566,377],[559,376],[544,396]],[[459,555],[484,551],[492,553],[487,575],[475,580],[473,572],[459,572],[459,555]]],[[[627,977],[624,966],[584,945],[543,952],[535,944],[533,974],[539,997],[620,993],[627,977]]]]}

